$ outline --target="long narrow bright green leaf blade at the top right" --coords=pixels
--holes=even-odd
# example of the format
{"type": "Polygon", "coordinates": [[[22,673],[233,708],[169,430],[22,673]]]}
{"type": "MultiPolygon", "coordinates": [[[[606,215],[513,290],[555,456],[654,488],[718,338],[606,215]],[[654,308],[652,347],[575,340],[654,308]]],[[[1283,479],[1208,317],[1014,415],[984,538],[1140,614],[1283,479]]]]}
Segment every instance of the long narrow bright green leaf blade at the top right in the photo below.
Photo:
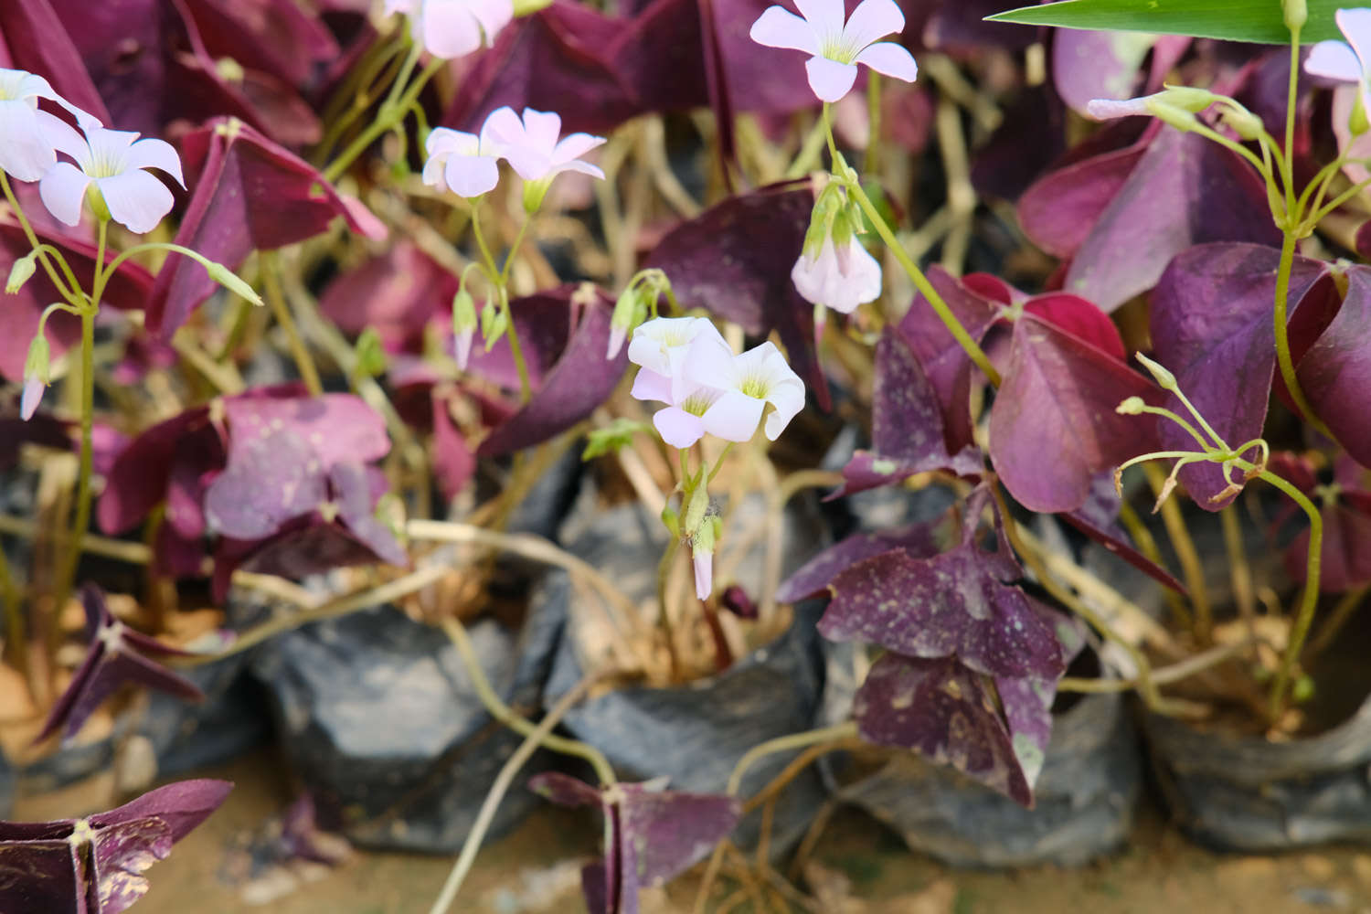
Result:
{"type": "MultiPolygon", "coordinates": [[[[1342,40],[1333,18],[1353,0],[1308,0],[1300,41],[1342,40]]],[[[1058,0],[986,16],[990,22],[1087,32],[1156,32],[1196,38],[1289,44],[1281,0],[1058,0]]]]}

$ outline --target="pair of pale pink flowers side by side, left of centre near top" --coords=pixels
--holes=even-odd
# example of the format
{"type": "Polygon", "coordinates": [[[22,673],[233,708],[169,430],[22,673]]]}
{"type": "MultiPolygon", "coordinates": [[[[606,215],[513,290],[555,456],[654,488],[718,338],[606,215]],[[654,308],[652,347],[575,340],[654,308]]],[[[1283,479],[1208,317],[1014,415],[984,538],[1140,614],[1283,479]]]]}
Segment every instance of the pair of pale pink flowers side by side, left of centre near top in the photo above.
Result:
{"type": "Polygon", "coordinates": [[[480,134],[435,127],[425,141],[429,158],[424,182],[461,197],[478,197],[499,184],[499,160],[505,159],[528,182],[525,201],[542,203],[547,186],[562,171],[603,180],[599,167],[580,158],[605,143],[605,137],[561,133],[561,115],[524,108],[521,118],[510,107],[491,111],[480,134]]]}

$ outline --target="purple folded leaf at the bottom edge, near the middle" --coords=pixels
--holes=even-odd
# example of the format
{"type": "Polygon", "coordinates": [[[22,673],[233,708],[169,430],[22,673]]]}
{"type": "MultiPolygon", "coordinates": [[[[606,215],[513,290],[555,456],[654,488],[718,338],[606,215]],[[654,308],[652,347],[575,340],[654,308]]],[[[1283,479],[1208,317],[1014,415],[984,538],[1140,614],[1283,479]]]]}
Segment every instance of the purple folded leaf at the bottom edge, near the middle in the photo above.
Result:
{"type": "Polygon", "coordinates": [[[591,914],[638,914],[638,892],[658,887],[703,859],[742,815],[735,796],[668,791],[666,778],[595,789],[548,771],[529,788],[561,806],[599,806],[605,859],[581,872],[591,914]]]}

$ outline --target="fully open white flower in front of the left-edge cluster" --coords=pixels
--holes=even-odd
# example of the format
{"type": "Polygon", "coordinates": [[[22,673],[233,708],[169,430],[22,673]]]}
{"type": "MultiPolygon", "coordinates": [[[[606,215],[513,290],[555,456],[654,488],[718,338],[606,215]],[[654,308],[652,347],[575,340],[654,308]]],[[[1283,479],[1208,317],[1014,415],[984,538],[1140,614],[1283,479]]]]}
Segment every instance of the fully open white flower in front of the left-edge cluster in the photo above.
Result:
{"type": "Polygon", "coordinates": [[[158,227],[171,211],[171,192],[145,169],[160,169],[184,188],[181,158],[171,144],[151,137],[138,140],[129,130],[90,126],[85,133],[81,138],[69,127],[62,137],[58,151],[77,164],[58,162],[43,175],[38,184],[43,204],[58,221],[77,225],[86,189],[95,184],[111,219],[137,234],[158,227]]]}

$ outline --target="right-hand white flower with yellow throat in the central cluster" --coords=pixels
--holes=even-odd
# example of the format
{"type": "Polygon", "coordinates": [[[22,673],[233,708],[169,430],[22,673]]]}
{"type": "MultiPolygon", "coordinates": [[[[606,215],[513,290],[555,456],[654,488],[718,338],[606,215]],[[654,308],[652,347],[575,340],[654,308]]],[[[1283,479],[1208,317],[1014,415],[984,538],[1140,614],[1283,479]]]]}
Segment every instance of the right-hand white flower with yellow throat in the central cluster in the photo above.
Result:
{"type": "Polygon", "coordinates": [[[725,441],[751,439],[766,404],[773,407],[766,417],[766,437],[775,441],[805,406],[803,381],[771,341],[742,355],[698,341],[691,345],[684,375],[688,382],[720,391],[701,421],[706,432],[725,441]]]}

